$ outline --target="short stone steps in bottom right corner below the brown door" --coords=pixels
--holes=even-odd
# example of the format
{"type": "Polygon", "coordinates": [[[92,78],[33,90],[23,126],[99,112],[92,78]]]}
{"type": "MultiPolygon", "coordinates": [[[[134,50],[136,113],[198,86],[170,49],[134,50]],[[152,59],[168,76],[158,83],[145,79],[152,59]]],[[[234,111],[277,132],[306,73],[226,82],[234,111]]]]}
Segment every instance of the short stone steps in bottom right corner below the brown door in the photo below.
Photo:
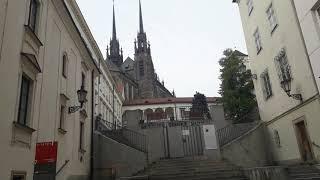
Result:
{"type": "Polygon", "coordinates": [[[320,180],[320,169],[314,165],[295,165],[288,167],[290,180],[320,180]]]}

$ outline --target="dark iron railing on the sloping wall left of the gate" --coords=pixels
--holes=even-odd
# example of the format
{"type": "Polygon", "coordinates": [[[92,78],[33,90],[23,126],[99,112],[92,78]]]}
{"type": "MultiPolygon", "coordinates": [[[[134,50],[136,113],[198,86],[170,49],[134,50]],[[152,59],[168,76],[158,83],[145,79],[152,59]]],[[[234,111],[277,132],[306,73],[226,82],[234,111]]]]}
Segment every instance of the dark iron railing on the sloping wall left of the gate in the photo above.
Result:
{"type": "Polygon", "coordinates": [[[110,123],[99,116],[96,121],[96,130],[119,143],[145,153],[148,152],[148,141],[144,134],[110,123]]]}

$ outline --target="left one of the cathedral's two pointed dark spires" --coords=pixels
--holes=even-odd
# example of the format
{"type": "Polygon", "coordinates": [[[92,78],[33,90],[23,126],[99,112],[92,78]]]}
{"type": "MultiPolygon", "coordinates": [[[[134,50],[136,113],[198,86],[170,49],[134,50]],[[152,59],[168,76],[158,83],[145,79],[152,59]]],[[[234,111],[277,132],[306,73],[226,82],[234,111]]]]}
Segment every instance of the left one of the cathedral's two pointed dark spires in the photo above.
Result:
{"type": "Polygon", "coordinates": [[[123,63],[122,48],[120,48],[119,40],[117,39],[116,29],[116,16],[113,2],[113,26],[112,26],[112,38],[110,39],[110,48],[107,48],[107,59],[112,61],[117,66],[121,66],[123,63]]]}

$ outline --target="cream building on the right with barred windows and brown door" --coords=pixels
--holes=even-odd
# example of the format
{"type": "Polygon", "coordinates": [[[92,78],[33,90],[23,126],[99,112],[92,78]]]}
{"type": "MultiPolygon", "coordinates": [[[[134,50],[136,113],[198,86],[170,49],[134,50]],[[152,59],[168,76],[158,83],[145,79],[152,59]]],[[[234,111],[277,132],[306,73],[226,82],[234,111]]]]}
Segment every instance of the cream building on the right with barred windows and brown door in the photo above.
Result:
{"type": "Polygon", "coordinates": [[[274,160],[319,160],[320,151],[312,143],[320,141],[319,91],[293,1],[233,2],[239,6],[250,68],[256,77],[255,94],[274,160]]]}

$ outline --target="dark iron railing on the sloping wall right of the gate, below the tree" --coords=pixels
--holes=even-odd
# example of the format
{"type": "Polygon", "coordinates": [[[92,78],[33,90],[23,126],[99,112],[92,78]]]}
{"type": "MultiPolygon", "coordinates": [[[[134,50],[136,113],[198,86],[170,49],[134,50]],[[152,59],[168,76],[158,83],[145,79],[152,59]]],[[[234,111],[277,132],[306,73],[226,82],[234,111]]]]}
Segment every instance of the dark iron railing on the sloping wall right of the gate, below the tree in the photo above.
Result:
{"type": "Polygon", "coordinates": [[[259,122],[231,124],[217,131],[220,147],[244,135],[255,128],[259,122]]]}

